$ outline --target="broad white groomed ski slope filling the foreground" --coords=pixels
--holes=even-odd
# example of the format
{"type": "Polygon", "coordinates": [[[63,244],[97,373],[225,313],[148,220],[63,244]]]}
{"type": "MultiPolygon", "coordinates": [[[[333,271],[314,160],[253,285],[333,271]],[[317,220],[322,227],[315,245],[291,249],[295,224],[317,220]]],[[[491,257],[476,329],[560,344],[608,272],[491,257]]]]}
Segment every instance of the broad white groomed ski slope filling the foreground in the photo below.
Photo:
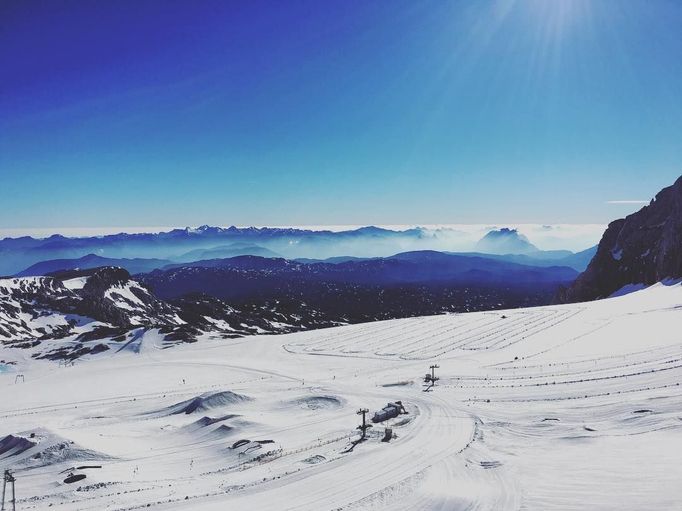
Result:
{"type": "Polygon", "coordinates": [[[0,469],[22,511],[677,509],[680,327],[668,283],[172,349],[151,331],[73,367],[3,349],[0,469]],[[356,411],[394,400],[396,438],[346,452],[356,411]]]}

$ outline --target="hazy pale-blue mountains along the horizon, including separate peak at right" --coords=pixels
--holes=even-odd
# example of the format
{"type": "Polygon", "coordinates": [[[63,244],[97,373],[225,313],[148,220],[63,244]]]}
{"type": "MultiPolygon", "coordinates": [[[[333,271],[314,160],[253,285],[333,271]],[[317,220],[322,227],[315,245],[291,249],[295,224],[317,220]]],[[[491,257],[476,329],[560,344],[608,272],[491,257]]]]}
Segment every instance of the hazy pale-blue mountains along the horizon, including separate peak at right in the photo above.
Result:
{"type": "MultiPolygon", "coordinates": [[[[74,264],[85,268],[95,264],[115,264],[132,273],[162,267],[163,263],[224,259],[239,255],[339,262],[452,245],[452,236],[456,236],[453,233],[456,231],[422,228],[395,231],[372,226],[340,232],[201,226],[161,233],[121,233],[85,238],[60,235],[45,239],[5,238],[0,240],[0,275],[39,274],[46,271],[44,268],[47,266],[34,265],[43,262],[57,266],[70,264],[66,260],[77,260],[74,264]],[[103,259],[97,262],[95,257],[103,259]]],[[[534,261],[557,259],[559,265],[584,269],[579,262],[570,259],[574,255],[572,252],[537,250],[513,229],[491,231],[479,246],[480,253],[527,255],[533,259],[518,260],[522,263],[534,264],[534,261]],[[565,258],[565,261],[559,261],[561,258],[565,258]]],[[[513,258],[508,260],[513,261],[513,258]]],[[[546,266],[545,263],[539,265],[546,266]]]]}

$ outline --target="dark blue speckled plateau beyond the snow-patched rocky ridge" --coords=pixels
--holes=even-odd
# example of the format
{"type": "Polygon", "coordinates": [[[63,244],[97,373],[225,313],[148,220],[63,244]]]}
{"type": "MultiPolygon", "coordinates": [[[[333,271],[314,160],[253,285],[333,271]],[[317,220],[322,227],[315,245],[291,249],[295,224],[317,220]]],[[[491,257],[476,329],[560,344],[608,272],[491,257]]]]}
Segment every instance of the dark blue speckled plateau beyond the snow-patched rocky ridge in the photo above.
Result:
{"type": "MultiPolygon", "coordinates": [[[[241,311],[357,323],[549,303],[577,272],[421,251],[336,264],[240,256],[177,265],[136,278],[175,303],[201,294],[241,311]]],[[[291,321],[289,321],[291,322],[291,321]]]]}

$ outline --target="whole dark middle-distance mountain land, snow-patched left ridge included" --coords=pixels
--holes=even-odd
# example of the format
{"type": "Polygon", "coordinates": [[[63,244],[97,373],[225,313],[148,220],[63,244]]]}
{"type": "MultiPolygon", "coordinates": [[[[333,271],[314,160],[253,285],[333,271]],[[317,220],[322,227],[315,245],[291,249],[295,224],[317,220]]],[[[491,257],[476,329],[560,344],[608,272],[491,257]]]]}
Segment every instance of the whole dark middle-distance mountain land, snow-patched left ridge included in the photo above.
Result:
{"type": "Polygon", "coordinates": [[[250,255],[156,260],[163,269],[134,277],[120,267],[85,268],[102,262],[111,260],[51,261],[34,266],[54,270],[49,275],[0,279],[0,341],[37,357],[75,358],[121,349],[149,330],[158,330],[165,346],[211,335],[540,305],[577,275],[567,267],[435,251],[337,263],[250,255]]]}

